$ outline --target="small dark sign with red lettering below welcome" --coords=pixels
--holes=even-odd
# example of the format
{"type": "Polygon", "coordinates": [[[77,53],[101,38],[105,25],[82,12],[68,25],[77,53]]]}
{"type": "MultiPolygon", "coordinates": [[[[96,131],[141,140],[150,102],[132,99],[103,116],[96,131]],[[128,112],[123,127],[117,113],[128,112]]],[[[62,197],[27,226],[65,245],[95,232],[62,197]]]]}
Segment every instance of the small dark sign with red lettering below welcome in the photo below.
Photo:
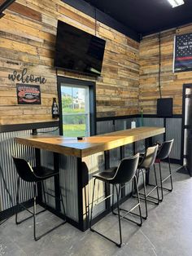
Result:
{"type": "Polygon", "coordinates": [[[16,84],[18,104],[41,104],[40,86],[16,84]]]}

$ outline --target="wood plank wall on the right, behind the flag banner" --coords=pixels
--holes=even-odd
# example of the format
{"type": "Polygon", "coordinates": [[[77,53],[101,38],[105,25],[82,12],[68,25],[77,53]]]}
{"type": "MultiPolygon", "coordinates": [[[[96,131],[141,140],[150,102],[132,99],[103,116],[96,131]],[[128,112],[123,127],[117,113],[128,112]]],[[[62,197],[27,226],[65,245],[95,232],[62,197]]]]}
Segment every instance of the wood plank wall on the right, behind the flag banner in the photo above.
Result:
{"type": "Polygon", "coordinates": [[[159,98],[159,36],[162,96],[173,98],[173,114],[182,113],[182,87],[184,83],[192,83],[192,72],[172,73],[173,40],[177,34],[191,32],[192,24],[152,34],[140,42],[139,103],[144,114],[156,113],[156,99],[159,98]]]}

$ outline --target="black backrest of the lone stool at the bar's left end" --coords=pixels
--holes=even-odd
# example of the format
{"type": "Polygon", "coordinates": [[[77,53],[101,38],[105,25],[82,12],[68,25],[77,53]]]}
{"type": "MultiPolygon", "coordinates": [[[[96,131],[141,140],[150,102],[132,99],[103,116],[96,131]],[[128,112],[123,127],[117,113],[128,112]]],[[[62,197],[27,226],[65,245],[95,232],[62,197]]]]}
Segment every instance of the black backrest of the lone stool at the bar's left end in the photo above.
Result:
{"type": "Polygon", "coordinates": [[[13,161],[15,163],[16,171],[21,179],[24,179],[24,181],[27,182],[35,182],[37,180],[28,161],[19,157],[13,157],[13,161]]]}

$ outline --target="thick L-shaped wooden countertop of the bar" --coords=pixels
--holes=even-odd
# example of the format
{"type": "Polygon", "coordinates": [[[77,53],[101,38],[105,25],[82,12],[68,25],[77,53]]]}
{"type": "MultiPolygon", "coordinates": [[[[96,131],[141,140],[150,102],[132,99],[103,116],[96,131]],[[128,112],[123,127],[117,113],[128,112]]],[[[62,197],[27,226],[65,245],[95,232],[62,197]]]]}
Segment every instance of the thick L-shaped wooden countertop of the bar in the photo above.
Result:
{"type": "Polygon", "coordinates": [[[64,138],[59,135],[17,137],[16,143],[73,157],[87,157],[97,152],[118,148],[141,139],[163,134],[164,132],[165,129],[163,127],[138,127],[104,135],[85,137],[83,140],[64,138]]]}

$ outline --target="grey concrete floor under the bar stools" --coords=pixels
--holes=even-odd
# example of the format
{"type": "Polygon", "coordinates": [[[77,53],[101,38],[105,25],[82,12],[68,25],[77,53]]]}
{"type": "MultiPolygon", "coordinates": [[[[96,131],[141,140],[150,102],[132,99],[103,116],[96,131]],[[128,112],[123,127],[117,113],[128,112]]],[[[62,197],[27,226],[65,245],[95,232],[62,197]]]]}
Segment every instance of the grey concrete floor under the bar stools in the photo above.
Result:
{"type": "MultiPolygon", "coordinates": [[[[180,167],[172,165],[173,191],[166,192],[158,206],[149,205],[149,217],[142,227],[122,220],[121,248],[94,232],[81,232],[68,223],[35,242],[32,219],[16,226],[12,217],[0,227],[0,255],[191,256],[192,179],[176,172],[180,167]]],[[[124,207],[129,207],[131,201],[126,201],[124,207]]],[[[59,218],[46,211],[38,217],[38,230],[47,230],[59,222],[59,218]]],[[[96,226],[111,238],[118,237],[116,216],[109,214],[96,226]]]]}

